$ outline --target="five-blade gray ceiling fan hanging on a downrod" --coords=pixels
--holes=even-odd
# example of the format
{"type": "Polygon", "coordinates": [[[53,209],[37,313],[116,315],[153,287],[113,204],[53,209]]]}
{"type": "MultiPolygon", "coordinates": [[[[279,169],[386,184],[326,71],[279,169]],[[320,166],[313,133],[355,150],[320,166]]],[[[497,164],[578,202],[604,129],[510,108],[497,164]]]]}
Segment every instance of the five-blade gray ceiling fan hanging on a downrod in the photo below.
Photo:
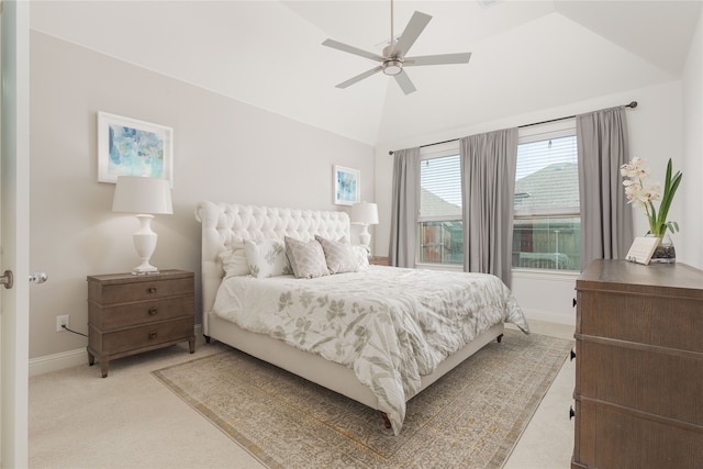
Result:
{"type": "Polygon", "coordinates": [[[361,57],[370,58],[371,60],[379,62],[380,65],[367,70],[356,77],[349,78],[346,81],[337,85],[337,88],[346,88],[350,85],[361,81],[365,78],[370,77],[379,71],[395,78],[395,81],[403,90],[405,94],[410,94],[415,91],[416,88],[411,81],[410,77],[403,70],[403,67],[417,67],[423,65],[446,65],[446,64],[468,64],[471,58],[471,53],[458,53],[458,54],[438,54],[438,55],[423,55],[417,57],[405,57],[405,54],[413,46],[420,34],[423,32],[427,23],[429,23],[432,16],[420,11],[415,11],[410,19],[410,22],[405,26],[405,30],[400,35],[398,41],[393,35],[393,0],[391,0],[391,40],[388,46],[382,51],[382,56],[366,52],[364,49],[341,43],[334,40],[326,40],[322,43],[327,47],[336,48],[349,54],[359,55],[361,57]]]}

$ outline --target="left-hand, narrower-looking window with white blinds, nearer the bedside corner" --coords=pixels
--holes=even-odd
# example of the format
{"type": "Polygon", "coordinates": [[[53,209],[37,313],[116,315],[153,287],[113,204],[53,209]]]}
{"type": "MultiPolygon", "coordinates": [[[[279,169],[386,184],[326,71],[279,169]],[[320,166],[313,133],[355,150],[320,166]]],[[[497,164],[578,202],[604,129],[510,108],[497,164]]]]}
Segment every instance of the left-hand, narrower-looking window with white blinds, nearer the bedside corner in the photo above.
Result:
{"type": "Polygon", "coordinates": [[[458,142],[423,148],[420,161],[420,264],[464,264],[458,142]]]}

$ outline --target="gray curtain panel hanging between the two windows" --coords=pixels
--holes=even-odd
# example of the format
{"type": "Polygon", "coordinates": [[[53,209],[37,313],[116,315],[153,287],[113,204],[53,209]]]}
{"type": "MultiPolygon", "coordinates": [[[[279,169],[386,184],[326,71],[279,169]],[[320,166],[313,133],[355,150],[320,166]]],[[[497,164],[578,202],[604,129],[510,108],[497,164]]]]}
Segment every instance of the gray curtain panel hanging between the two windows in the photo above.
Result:
{"type": "Polygon", "coordinates": [[[460,139],[464,269],[493,273],[509,288],[517,129],[460,139]]]}

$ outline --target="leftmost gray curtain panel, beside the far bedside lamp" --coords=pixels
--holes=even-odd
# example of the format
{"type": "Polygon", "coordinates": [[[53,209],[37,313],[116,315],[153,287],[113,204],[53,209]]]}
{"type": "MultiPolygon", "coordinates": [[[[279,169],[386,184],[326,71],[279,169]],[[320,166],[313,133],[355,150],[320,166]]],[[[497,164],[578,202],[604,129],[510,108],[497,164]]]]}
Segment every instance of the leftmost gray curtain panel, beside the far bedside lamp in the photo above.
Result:
{"type": "Polygon", "coordinates": [[[393,199],[389,264],[415,267],[420,147],[393,152],[393,199]]]}

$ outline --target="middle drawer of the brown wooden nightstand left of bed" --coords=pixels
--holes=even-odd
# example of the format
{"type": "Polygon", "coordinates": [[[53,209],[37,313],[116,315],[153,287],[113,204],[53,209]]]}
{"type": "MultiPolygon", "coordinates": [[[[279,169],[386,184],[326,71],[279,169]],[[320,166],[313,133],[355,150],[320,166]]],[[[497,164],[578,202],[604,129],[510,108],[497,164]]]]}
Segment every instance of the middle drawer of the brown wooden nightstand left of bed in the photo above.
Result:
{"type": "Polygon", "coordinates": [[[90,324],[103,332],[113,331],[132,325],[192,316],[193,301],[192,295],[122,303],[114,306],[101,306],[91,301],[88,304],[88,320],[90,324]]]}

